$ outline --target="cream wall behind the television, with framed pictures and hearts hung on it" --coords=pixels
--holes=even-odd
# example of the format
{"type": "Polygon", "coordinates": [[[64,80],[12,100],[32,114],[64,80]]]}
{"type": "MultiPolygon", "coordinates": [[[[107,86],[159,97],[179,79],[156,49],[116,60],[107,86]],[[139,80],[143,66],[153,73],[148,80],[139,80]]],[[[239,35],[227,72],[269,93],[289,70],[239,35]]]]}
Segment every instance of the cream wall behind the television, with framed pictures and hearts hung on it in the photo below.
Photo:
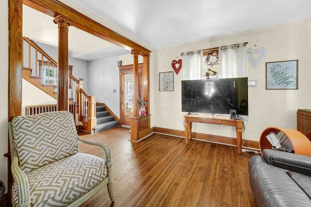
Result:
{"type": "MultiPolygon", "coordinates": [[[[247,61],[249,80],[257,80],[257,87],[248,88],[249,123],[245,138],[259,141],[261,131],[270,126],[296,128],[296,111],[311,108],[311,20],[278,27],[244,32],[204,41],[157,49],[154,53],[155,111],[152,116],[156,127],[184,130],[181,113],[181,74],[174,73],[174,91],[159,92],[158,73],[173,71],[172,60],[181,59],[180,53],[248,42],[266,48],[266,56],[254,69],[247,61]],[[299,59],[299,90],[265,90],[265,63],[299,59]]],[[[182,68],[185,70],[186,68],[182,68]]],[[[193,123],[194,132],[236,137],[234,127],[193,123]]]]}

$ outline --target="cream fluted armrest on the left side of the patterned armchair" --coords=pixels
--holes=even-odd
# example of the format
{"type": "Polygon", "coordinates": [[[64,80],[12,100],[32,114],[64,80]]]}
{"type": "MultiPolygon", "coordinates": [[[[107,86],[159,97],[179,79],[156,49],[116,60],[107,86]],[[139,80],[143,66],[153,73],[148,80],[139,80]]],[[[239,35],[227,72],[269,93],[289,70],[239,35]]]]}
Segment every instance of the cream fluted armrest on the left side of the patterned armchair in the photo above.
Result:
{"type": "Polygon", "coordinates": [[[13,151],[13,159],[11,165],[12,175],[17,185],[18,207],[30,207],[30,191],[27,175],[18,165],[18,156],[16,150],[13,151]]]}

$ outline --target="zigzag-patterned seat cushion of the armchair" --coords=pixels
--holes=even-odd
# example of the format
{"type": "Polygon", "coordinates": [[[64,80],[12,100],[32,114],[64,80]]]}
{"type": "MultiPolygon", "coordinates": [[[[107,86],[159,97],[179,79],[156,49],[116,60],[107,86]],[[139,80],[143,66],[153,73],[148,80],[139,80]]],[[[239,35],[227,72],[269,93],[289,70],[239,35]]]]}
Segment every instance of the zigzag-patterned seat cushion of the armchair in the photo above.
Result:
{"type": "MultiPolygon", "coordinates": [[[[30,171],[31,205],[61,207],[76,200],[107,177],[105,160],[93,155],[77,153],[30,171]]],[[[12,203],[17,206],[17,186],[14,182],[12,203]]]]}

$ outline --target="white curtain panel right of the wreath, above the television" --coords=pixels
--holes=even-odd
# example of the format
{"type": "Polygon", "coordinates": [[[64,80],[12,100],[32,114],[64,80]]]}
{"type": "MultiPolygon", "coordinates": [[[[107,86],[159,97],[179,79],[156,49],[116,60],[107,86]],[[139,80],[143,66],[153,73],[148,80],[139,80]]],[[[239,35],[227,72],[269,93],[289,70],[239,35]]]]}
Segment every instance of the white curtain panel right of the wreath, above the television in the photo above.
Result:
{"type": "Polygon", "coordinates": [[[246,76],[246,51],[243,43],[239,47],[228,45],[220,47],[219,78],[239,78],[246,76]]]}

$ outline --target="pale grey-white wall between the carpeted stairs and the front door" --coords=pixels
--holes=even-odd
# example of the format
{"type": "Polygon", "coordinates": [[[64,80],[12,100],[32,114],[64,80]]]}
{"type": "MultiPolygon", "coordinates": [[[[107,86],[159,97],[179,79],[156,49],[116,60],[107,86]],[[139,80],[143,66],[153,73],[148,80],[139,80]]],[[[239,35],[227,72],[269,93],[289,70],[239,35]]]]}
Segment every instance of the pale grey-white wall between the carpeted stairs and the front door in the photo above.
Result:
{"type": "Polygon", "coordinates": [[[115,56],[88,62],[88,89],[91,95],[97,96],[97,102],[105,103],[120,118],[118,60],[115,56]]]}

